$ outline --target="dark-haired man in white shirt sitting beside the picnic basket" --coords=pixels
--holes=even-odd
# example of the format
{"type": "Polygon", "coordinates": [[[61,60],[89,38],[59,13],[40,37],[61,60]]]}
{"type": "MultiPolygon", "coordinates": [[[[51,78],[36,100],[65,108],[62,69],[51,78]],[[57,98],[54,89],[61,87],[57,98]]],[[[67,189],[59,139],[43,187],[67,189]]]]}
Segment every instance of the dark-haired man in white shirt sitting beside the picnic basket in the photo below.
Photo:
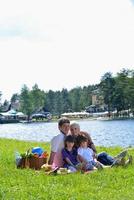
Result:
{"type": "Polygon", "coordinates": [[[51,153],[48,161],[48,164],[54,168],[63,166],[61,150],[64,148],[64,140],[70,129],[69,119],[65,117],[60,118],[58,128],[60,133],[51,140],[51,153]]]}

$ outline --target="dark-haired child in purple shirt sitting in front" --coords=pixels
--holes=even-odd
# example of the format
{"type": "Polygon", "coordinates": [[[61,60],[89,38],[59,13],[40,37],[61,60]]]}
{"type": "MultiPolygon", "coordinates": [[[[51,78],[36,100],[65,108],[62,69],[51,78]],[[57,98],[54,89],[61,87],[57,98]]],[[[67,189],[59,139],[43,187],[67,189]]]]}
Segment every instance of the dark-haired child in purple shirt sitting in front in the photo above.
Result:
{"type": "Polygon", "coordinates": [[[64,167],[71,172],[76,172],[80,167],[80,163],[77,160],[77,150],[74,148],[75,138],[72,135],[68,135],[65,138],[65,147],[62,149],[62,158],[64,167]]]}

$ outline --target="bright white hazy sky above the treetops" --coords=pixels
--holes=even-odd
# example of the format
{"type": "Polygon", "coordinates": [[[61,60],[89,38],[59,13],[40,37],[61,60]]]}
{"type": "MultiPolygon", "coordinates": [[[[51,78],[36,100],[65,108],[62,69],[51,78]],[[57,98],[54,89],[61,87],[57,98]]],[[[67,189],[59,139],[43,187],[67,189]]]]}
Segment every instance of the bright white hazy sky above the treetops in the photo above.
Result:
{"type": "Polygon", "coordinates": [[[44,91],[99,83],[134,69],[133,0],[4,0],[0,5],[0,91],[44,91]]]}

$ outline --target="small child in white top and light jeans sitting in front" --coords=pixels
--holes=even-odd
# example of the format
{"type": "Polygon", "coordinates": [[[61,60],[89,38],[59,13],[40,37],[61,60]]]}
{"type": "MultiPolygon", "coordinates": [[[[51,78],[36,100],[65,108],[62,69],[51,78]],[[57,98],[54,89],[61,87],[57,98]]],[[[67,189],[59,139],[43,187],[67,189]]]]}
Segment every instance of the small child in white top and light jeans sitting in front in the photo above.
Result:
{"type": "Polygon", "coordinates": [[[86,137],[80,135],[78,159],[85,163],[85,170],[102,169],[103,165],[95,159],[95,154],[91,148],[88,147],[88,140],[86,137]]]}

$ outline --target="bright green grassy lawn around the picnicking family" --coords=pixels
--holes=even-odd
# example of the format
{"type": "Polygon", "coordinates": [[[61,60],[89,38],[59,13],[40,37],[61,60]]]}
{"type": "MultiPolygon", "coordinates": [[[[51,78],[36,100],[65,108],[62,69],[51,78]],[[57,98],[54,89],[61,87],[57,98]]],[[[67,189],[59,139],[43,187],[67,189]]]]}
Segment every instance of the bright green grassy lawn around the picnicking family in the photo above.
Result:
{"type": "MultiPolygon", "coordinates": [[[[0,139],[0,200],[133,200],[134,165],[105,169],[90,174],[47,176],[42,171],[16,169],[14,152],[48,143],[0,139]]],[[[122,150],[98,148],[116,155],[122,150]]],[[[134,156],[134,149],[129,153],[134,156]]]]}

